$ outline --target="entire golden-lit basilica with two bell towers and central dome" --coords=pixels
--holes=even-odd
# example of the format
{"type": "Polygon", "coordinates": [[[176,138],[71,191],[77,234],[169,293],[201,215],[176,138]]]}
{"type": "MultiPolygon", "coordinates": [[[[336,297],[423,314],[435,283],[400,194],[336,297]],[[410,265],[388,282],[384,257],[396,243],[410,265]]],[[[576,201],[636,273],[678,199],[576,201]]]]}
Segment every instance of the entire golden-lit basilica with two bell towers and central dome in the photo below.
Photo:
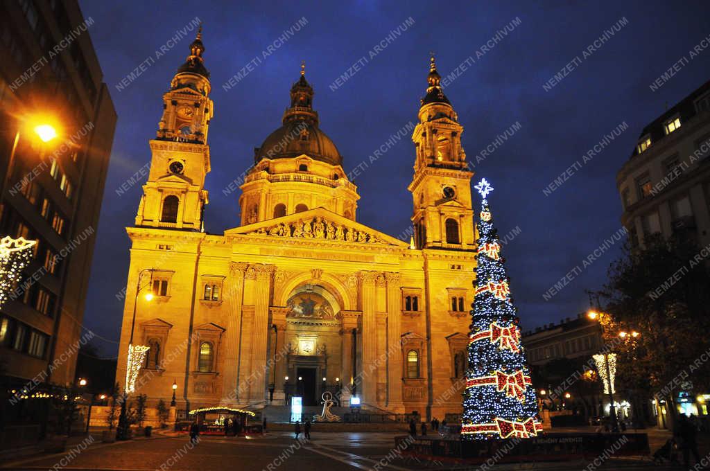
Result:
{"type": "Polygon", "coordinates": [[[329,390],[365,410],[459,413],[473,173],[434,60],[412,135],[413,237],[400,240],[357,221],[357,187],[320,128],[303,67],[282,126],[255,149],[239,226],[205,233],[214,104],[203,56],[198,34],[150,141],[150,174],[127,228],[116,380],[151,403],[175,390],[180,410],[253,410],[291,397],[315,405],[329,390]]]}

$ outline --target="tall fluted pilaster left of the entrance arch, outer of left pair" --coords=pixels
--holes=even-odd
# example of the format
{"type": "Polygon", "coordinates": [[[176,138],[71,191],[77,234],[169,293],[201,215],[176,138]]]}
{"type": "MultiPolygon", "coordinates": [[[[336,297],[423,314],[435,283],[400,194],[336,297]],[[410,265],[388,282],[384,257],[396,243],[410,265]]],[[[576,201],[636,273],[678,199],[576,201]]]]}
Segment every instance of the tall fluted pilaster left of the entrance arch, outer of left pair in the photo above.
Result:
{"type": "Polygon", "coordinates": [[[239,400],[236,391],[237,358],[241,337],[241,299],[244,293],[246,263],[229,263],[226,280],[226,334],[224,336],[224,371],[222,372],[222,404],[234,406],[239,400]]]}

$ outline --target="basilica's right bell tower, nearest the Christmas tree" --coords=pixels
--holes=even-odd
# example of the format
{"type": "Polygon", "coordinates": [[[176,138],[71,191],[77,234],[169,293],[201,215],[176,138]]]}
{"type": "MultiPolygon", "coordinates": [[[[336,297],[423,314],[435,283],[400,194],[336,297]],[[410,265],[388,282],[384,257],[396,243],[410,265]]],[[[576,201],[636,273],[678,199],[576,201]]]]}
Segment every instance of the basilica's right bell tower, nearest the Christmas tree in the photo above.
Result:
{"type": "Polygon", "coordinates": [[[471,178],[461,148],[464,127],[444,95],[434,57],[412,140],[416,150],[412,192],[417,249],[472,250],[475,244],[471,178]]]}

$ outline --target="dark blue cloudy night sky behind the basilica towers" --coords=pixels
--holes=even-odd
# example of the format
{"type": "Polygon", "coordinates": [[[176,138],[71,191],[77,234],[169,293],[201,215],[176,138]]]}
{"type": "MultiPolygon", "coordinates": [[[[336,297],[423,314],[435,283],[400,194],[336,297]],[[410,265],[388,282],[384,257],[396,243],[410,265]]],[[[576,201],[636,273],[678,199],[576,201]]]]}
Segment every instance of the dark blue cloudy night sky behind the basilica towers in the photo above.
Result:
{"type": "MultiPolygon", "coordinates": [[[[161,96],[185,61],[195,31],[176,44],[171,38],[196,17],[204,23],[215,109],[206,184],[209,233],[239,225],[239,192],[225,196],[222,189],[253,163],[253,148],[280,126],[301,60],[315,88],[321,128],[344,156],[346,172],[368,161],[410,121],[416,123],[430,50],[443,77],[464,63],[466,70],[459,70],[444,92],[465,128],[468,160],[475,163],[481,150],[519,123],[518,131],[508,132],[508,139],[476,165],[474,181],[486,177],[496,188],[488,199],[499,235],[519,232],[503,255],[523,328],[587,309],[584,289],[603,284],[620,243],[551,299],[543,294],[621,228],[616,172],[643,126],[666,103],[672,106],[710,79],[707,48],[684,61],[662,87],[650,89],[674,63],[689,58],[689,50],[703,40],[707,45],[710,4],[704,1],[616,1],[602,2],[603,8],[596,2],[552,1],[80,4],[84,17],[94,19],[89,33],[119,116],[84,315],[87,328],[102,337],[97,346],[105,355],[117,350],[123,301],[116,293],[124,289],[129,267],[125,227],[133,225],[145,177],[121,196],[116,190],[150,161],[148,140],[155,138],[161,96]],[[284,31],[302,18],[305,26],[291,29],[280,43],[284,31]],[[410,26],[403,24],[408,20],[410,26]],[[507,35],[498,34],[492,48],[481,49],[506,26],[507,35]],[[614,34],[600,41],[609,30],[614,34]],[[371,57],[391,31],[395,40],[371,57]],[[161,45],[174,47],[156,59],[161,45]],[[116,84],[148,57],[146,70],[119,91],[116,84]],[[223,89],[250,62],[246,77],[223,89]],[[333,90],[330,85],[354,64],[359,70],[333,90]],[[565,66],[567,75],[560,74],[550,88],[548,81],[565,66]],[[621,123],[628,125],[626,131],[575,168],[561,187],[543,193],[621,123]]],[[[355,179],[358,221],[395,236],[410,227],[412,214],[410,134],[355,179]]]]}

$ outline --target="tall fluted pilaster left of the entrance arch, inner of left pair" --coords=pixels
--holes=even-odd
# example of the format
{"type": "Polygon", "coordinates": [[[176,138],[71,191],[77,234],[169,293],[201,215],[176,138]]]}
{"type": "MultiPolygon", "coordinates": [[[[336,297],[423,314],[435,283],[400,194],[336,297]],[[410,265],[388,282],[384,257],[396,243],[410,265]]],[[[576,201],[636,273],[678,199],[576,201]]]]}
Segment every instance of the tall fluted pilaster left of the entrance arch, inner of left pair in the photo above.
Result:
{"type": "Polygon", "coordinates": [[[268,331],[271,327],[268,319],[269,294],[271,293],[271,275],[273,265],[249,265],[247,276],[256,277],[254,288],[254,321],[251,328],[251,365],[247,382],[249,383],[249,402],[261,403],[266,399],[266,384],[269,368],[266,363],[268,331]],[[252,271],[253,270],[253,271],[252,271]]]}

